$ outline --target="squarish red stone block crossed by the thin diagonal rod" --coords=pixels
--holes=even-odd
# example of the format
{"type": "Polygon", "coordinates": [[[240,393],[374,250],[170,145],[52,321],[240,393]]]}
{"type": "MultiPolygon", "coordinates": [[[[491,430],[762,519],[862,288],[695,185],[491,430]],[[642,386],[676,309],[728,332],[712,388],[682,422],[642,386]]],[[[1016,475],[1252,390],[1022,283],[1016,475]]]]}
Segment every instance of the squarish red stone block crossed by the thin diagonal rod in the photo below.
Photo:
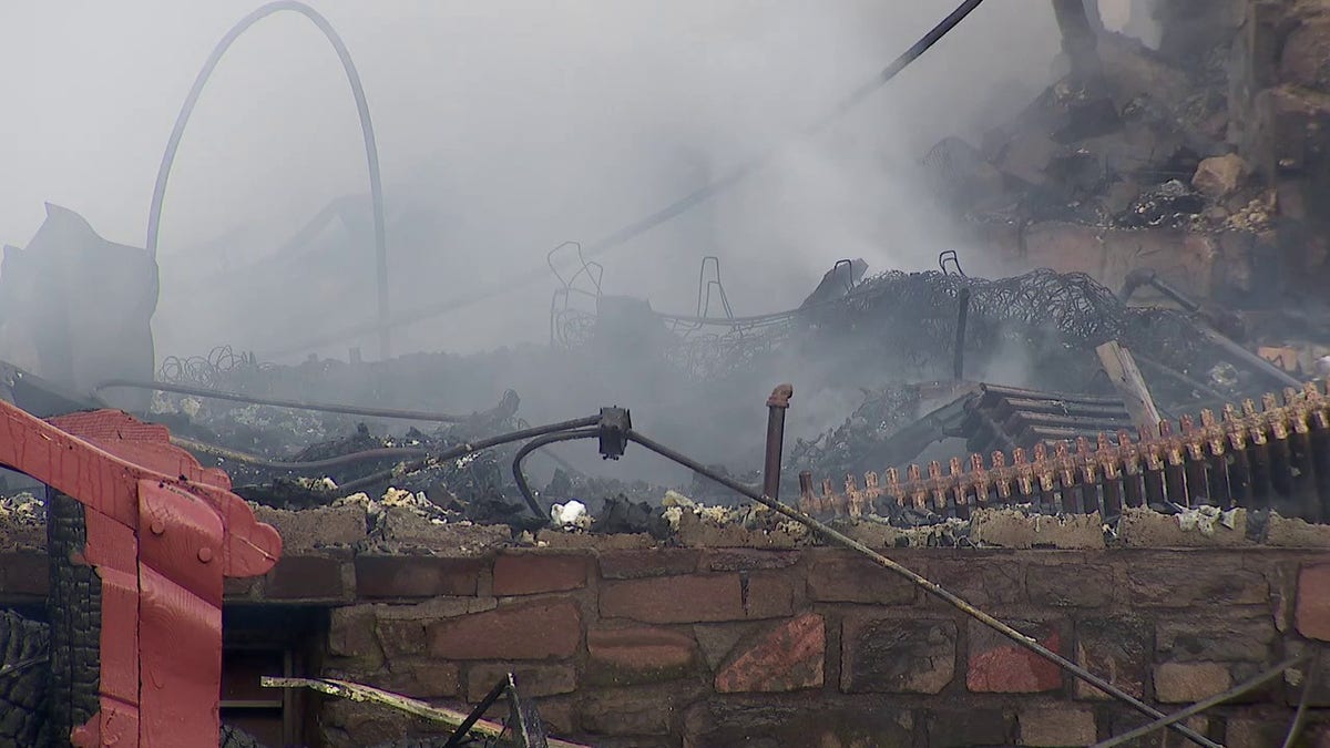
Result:
{"type": "MultiPolygon", "coordinates": [[[[1065,656],[1065,635],[1056,624],[1008,622],[1027,636],[1065,656]]],[[[970,622],[966,687],[975,693],[1039,693],[1063,687],[1063,671],[978,620],[970,622]]]]}

